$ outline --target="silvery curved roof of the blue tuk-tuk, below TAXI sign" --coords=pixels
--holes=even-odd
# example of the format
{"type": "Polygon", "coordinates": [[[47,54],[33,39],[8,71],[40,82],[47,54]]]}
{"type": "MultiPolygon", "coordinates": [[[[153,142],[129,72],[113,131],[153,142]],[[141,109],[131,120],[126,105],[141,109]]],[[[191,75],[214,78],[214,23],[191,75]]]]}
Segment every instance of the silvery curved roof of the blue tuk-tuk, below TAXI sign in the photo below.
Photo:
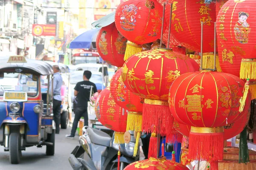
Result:
{"type": "Polygon", "coordinates": [[[23,70],[21,73],[34,73],[44,76],[54,74],[52,65],[41,60],[26,59],[26,62],[12,63],[8,63],[8,60],[9,57],[0,58],[0,72],[16,72],[15,69],[20,68],[23,70]]]}

